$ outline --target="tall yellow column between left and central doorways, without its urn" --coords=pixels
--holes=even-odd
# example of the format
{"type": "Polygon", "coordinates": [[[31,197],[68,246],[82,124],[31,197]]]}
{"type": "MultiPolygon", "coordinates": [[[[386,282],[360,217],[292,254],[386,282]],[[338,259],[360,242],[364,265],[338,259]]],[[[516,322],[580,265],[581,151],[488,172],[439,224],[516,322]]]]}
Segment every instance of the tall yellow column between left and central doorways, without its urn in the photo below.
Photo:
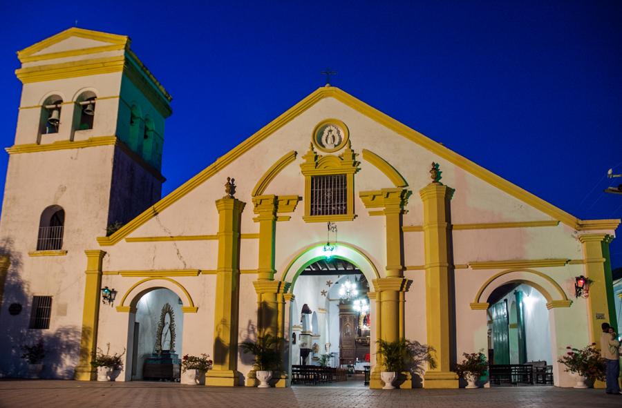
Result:
{"type": "Polygon", "coordinates": [[[240,298],[240,224],[245,203],[233,193],[216,201],[218,268],[214,307],[214,366],[205,385],[238,385],[238,308],[240,298]]]}

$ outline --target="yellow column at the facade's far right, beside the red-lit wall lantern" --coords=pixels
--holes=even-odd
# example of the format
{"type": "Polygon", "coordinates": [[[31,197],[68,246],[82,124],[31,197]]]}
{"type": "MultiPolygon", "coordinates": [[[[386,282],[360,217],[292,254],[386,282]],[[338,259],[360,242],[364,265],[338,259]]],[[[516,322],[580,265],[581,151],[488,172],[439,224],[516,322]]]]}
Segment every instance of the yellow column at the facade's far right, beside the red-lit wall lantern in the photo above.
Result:
{"type": "Polygon", "coordinates": [[[609,322],[609,304],[607,302],[607,286],[605,284],[605,258],[602,243],[607,239],[605,234],[587,234],[578,237],[583,244],[585,259],[585,277],[590,279],[590,293],[587,296],[587,313],[590,326],[590,342],[601,348],[601,324],[609,322]]]}

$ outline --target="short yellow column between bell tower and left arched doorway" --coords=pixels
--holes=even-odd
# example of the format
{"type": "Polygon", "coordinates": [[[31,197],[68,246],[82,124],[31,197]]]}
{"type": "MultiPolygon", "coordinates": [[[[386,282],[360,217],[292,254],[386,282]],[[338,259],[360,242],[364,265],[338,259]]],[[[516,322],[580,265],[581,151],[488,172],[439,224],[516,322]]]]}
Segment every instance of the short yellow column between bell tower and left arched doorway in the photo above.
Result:
{"type": "Polygon", "coordinates": [[[106,253],[88,250],[86,253],[86,282],[84,283],[84,306],[82,307],[82,338],[80,359],[75,367],[74,378],[81,381],[97,380],[97,370],[91,361],[97,353],[97,323],[100,318],[100,293],[102,289],[102,260],[106,253]]]}

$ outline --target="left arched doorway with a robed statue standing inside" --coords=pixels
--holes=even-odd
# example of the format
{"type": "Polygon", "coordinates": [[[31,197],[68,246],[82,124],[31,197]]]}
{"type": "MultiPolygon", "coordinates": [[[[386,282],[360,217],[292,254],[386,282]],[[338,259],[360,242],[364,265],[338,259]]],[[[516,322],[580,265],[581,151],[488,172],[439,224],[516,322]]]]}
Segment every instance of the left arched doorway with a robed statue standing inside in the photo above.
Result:
{"type": "Polygon", "coordinates": [[[143,293],[130,325],[128,365],[132,380],[180,380],[184,327],[182,301],[169,289],[143,293]]]}

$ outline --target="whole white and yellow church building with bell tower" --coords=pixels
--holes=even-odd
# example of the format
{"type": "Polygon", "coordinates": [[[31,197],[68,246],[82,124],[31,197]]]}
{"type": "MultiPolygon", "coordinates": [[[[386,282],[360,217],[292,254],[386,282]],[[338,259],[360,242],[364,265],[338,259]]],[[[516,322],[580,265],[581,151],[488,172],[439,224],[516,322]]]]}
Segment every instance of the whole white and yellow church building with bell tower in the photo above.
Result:
{"type": "Polygon", "coordinates": [[[145,356],[167,349],[209,354],[207,385],[253,386],[238,343],[269,333],[286,344],[274,385],[288,386],[305,335],[311,364],[354,358],[335,289],[348,270],[368,304],[352,321],[368,333],[370,387],[382,386],[379,338],[435,349],[437,365],[402,387],[459,387],[455,364],[477,351],[547,360],[569,387],[558,356],[615,324],[608,244],[620,220],[579,220],[339,88],[160,199],[171,97],[128,37],[70,28],[18,56],[0,221],[4,376],[26,375],[21,347],[41,338],[52,378],[95,379],[98,348],[124,353],[117,380],[147,378],[145,356]],[[577,296],[581,276],[589,292],[577,296]],[[174,332],[157,329],[160,311],[174,332]]]}

